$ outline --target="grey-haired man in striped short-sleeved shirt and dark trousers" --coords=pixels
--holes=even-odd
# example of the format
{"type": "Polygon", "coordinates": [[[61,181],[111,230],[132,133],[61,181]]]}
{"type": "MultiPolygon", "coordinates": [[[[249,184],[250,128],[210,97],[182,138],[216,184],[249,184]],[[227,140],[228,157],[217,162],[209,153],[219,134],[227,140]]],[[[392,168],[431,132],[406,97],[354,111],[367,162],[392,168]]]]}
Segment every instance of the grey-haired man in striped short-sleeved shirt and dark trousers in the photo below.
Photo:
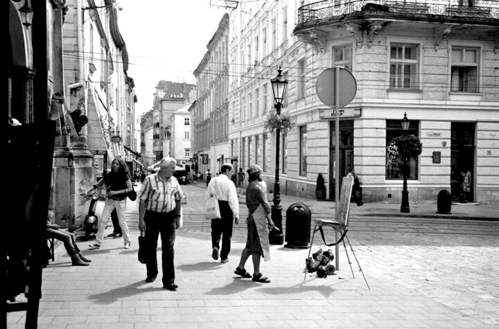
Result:
{"type": "Polygon", "coordinates": [[[182,198],[184,193],[173,172],[177,161],[167,157],[159,162],[159,172],[144,179],[139,198],[139,230],[146,231],[146,246],[148,252],[146,282],[152,283],[158,274],[157,240],[161,233],[163,249],[161,263],[163,268],[163,287],[176,290],[175,265],[175,230],[182,227],[182,198]]]}

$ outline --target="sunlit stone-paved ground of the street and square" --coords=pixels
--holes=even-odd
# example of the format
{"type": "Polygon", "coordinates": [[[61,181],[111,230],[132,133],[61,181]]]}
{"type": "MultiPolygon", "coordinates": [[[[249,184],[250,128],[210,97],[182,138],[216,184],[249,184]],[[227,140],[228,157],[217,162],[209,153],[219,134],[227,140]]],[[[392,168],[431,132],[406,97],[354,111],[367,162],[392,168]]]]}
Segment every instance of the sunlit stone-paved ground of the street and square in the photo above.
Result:
{"type": "MultiPolygon", "coordinates": [[[[234,274],[244,224],[234,227],[230,262],[211,259],[209,222],[200,217],[204,188],[184,188],[176,292],[162,289],[160,280],[145,283],[146,266],[137,261],[138,202],[129,202],[131,249],[123,249],[121,239],[106,239],[100,250],[78,242],[93,260],[89,267],[71,266],[64,248],[56,249],[55,262],[43,272],[40,328],[499,326],[499,222],[492,206],[453,206],[454,217],[441,218],[436,204],[411,204],[410,215],[417,217],[397,214],[395,204],[352,204],[348,236],[355,254],[349,247],[347,258],[339,248],[338,272],[327,278],[307,274],[304,281],[308,249],[272,245],[272,260],[261,263],[272,282],[263,284],[234,274]]],[[[313,219],[334,215],[334,202],[282,199],[283,216],[295,202],[304,202],[313,219]]],[[[244,218],[244,204],[240,208],[244,218]]],[[[327,242],[332,237],[326,232],[327,242]]],[[[313,251],[319,247],[317,237],[313,251]]],[[[246,268],[252,273],[251,261],[246,268]]],[[[8,328],[23,327],[24,312],[8,314],[8,328]]]]}

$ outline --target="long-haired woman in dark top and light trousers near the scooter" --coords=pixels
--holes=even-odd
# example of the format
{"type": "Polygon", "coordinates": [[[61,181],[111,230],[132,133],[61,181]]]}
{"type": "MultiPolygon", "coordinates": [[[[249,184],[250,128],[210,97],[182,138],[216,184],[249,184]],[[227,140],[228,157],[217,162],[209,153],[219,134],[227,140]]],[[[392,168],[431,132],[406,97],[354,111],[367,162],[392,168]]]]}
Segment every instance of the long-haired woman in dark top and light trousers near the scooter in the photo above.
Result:
{"type": "Polygon", "coordinates": [[[110,217],[112,211],[116,209],[121,232],[123,233],[123,240],[125,242],[124,248],[129,249],[132,240],[130,240],[130,234],[128,233],[125,212],[127,193],[132,191],[132,182],[130,181],[130,170],[123,159],[114,159],[111,164],[111,171],[105,178],[100,179],[96,185],[90,188],[87,191],[87,194],[92,190],[100,188],[102,184],[106,184],[107,186],[107,199],[105,201],[102,218],[100,218],[98,222],[96,242],[89,244],[89,246],[93,249],[99,249],[103,244],[107,219],[110,217]]]}

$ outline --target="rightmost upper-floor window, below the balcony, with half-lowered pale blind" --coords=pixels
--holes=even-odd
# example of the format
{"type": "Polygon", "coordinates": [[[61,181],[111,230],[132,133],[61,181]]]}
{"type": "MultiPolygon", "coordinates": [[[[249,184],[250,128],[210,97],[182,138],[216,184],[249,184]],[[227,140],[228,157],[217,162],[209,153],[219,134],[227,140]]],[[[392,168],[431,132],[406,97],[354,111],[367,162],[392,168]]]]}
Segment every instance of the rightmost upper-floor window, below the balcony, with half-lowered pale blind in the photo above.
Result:
{"type": "Polygon", "coordinates": [[[453,47],[450,91],[478,93],[478,48],[453,47]]]}

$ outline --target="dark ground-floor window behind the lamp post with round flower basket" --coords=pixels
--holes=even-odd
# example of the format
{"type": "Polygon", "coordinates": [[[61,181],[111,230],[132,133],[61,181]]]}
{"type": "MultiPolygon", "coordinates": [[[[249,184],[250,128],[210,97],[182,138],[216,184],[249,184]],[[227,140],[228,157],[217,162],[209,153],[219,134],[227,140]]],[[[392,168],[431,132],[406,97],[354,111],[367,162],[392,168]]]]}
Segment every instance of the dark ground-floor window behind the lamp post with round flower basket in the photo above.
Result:
{"type": "MultiPolygon", "coordinates": [[[[410,121],[408,134],[418,136],[419,121],[410,121]]],[[[387,120],[386,145],[396,136],[403,134],[400,120],[387,120]]],[[[387,151],[388,152],[388,151],[387,151]]],[[[397,159],[395,163],[388,163],[388,154],[386,156],[386,179],[403,179],[403,160],[397,159]]],[[[417,179],[418,176],[418,159],[408,160],[408,179],[417,179]]]]}

